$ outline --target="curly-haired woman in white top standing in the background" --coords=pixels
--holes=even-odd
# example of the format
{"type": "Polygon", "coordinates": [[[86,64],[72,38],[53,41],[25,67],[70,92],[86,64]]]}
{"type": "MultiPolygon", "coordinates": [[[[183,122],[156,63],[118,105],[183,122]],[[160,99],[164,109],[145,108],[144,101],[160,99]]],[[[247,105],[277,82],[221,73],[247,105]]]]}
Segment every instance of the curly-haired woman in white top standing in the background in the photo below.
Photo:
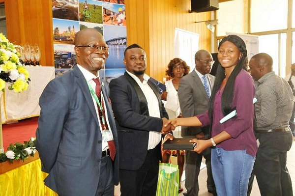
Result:
{"type": "MultiPolygon", "coordinates": [[[[166,101],[165,109],[169,115],[170,119],[181,117],[181,111],[177,96],[177,90],[180,79],[189,73],[189,66],[186,62],[180,58],[174,58],[168,64],[168,69],[166,70],[166,75],[172,78],[165,83],[166,90],[162,94],[162,99],[166,101]]],[[[181,138],[181,129],[179,127],[173,131],[175,138],[181,138]]],[[[182,170],[184,166],[184,151],[179,150],[164,150],[163,162],[169,163],[170,156],[177,155],[177,164],[179,168],[179,191],[181,193],[183,189],[181,188],[180,179],[182,175],[182,170]]]]}

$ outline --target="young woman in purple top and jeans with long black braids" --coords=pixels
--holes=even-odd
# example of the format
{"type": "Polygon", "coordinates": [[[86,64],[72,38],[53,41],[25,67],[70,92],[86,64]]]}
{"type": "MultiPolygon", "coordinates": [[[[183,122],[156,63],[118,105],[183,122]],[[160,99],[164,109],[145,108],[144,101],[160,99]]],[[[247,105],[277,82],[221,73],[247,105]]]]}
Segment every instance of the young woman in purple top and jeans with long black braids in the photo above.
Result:
{"type": "Polygon", "coordinates": [[[253,131],[255,87],[244,70],[247,56],[245,42],[236,35],[223,38],[218,46],[219,65],[205,114],[170,120],[174,126],[211,125],[211,139],[192,141],[196,152],[208,147],[218,196],[246,196],[255,162],[257,143],[253,131]],[[220,120],[236,110],[236,116],[220,124],[220,120]]]}

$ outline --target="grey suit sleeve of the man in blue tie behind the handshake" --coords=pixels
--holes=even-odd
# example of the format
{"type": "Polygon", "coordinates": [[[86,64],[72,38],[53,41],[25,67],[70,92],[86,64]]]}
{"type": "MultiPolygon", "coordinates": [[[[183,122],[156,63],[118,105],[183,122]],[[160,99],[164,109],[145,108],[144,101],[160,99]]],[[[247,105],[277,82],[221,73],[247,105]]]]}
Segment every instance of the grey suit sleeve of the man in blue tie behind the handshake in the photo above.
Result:
{"type": "MultiPolygon", "coordinates": [[[[178,86],[178,99],[180,104],[180,109],[182,112],[182,117],[192,117],[195,115],[194,108],[194,98],[193,98],[193,84],[190,83],[189,77],[181,78],[178,86]]],[[[181,127],[182,132],[185,135],[194,136],[201,132],[200,127],[181,127]]],[[[183,137],[182,133],[182,137],[183,137]]]]}

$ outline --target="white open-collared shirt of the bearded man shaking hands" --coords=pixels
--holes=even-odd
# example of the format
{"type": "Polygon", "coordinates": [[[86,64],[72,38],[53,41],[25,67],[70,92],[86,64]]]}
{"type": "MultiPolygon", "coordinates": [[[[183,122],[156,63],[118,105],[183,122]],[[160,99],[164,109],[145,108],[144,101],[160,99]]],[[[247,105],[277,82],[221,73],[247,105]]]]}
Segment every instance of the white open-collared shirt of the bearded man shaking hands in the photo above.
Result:
{"type": "MultiPolygon", "coordinates": [[[[153,90],[148,85],[149,76],[147,74],[144,74],[144,81],[141,82],[137,76],[128,72],[127,70],[126,70],[126,72],[136,81],[136,83],[139,85],[139,87],[143,91],[143,93],[147,99],[147,102],[148,102],[149,116],[161,118],[158,99],[157,99],[155,93],[153,92],[153,90]]],[[[156,132],[156,131],[152,131],[152,130],[149,131],[148,150],[156,147],[160,141],[161,141],[161,133],[156,132]]]]}

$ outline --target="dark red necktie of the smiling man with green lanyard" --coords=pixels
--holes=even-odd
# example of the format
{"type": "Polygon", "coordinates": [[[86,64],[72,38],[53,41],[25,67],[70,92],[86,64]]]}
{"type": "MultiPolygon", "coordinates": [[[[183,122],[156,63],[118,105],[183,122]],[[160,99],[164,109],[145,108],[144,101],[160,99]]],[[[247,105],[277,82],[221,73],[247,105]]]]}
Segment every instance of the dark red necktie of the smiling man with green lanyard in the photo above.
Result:
{"type": "MultiPolygon", "coordinates": [[[[102,128],[103,128],[103,131],[104,130],[108,130],[108,123],[106,122],[106,115],[105,115],[105,107],[104,107],[104,101],[103,99],[101,99],[101,86],[100,86],[100,82],[99,82],[99,78],[93,78],[92,79],[96,86],[95,86],[95,94],[98,98],[98,100],[100,101],[101,100],[101,106],[102,106],[102,111],[99,110],[99,106],[97,105],[97,109],[98,109],[98,114],[99,114],[99,119],[100,119],[100,123],[102,125],[102,128]],[[103,124],[102,120],[101,120],[101,117],[100,116],[103,116],[104,119],[105,119],[105,125],[103,124]]],[[[110,140],[108,141],[108,145],[109,145],[109,149],[110,149],[110,156],[111,156],[111,159],[114,161],[115,159],[115,155],[116,155],[116,146],[115,146],[115,141],[114,140],[110,140]]]]}

